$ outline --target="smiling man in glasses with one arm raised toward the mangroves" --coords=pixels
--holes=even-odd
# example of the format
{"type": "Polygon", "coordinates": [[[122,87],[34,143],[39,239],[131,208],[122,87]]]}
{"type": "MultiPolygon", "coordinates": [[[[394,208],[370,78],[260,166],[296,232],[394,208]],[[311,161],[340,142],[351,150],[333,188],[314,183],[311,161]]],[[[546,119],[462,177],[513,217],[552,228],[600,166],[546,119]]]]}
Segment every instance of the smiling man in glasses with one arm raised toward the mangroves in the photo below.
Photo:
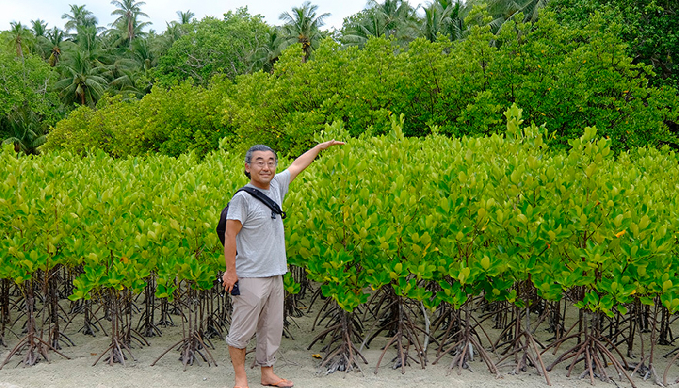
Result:
{"type": "MultiPolygon", "coordinates": [[[[276,152],[265,145],[254,145],[245,154],[245,175],[250,178],[248,186],[257,188],[282,208],[290,182],[321,150],[342,144],[344,142],[335,140],[317,144],[279,174],[276,174],[276,152]]],[[[283,332],[282,275],[287,272],[287,262],[283,222],[280,215],[272,219],[271,214],[257,198],[238,192],[229,204],[226,217],[223,285],[230,293],[238,281],[240,290],[239,296],[233,296],[234,313],[226,338],[236,372],[234,388],[248,386],[245,348],[255,333],[255,363],[261,367],[262,385],[293,386],[292,381],[276,376],[273,369],[283,332]]]]}

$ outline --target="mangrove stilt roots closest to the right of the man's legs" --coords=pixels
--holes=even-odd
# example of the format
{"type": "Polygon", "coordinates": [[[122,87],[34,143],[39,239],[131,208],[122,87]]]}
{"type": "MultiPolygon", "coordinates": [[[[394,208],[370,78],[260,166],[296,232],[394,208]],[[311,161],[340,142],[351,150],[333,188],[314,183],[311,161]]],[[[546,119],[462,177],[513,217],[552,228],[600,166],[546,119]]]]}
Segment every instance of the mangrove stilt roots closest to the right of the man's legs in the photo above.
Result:
{"type": "MultiPolygon", "coordinates": [[[[320,288],[317,292],[320,292],[320,288]]],[[[307,349],[311,349],[316,342],[330,338],[327,344],[320,349],[321,352],[325,353],[325,356],[320,361],[319,370],[325,370],[325,374],[337,370],[350,372],[354,368],[361,370],[358,359],[362,359],[364,364],[368,364],[368,361],[354,345],[354,341],[359,341],[363,332],[363,326],[356,318],[356,311],[345,311],[339,307],[334,298],[327,298],[318,310],[312,330],[316,328],[316,323],[320,325],[326,319],[328,323],[325,325],[325,330],[320,332],[307,347],[307,349]]]]}

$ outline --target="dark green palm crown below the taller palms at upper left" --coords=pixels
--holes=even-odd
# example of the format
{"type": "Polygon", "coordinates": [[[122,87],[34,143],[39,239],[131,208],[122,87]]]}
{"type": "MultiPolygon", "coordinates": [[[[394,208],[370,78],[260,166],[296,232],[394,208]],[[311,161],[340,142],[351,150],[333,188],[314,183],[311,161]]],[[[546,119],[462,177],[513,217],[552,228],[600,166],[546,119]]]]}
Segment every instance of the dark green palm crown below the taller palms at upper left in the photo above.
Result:
{"type": "Polygon", "coordinates": [[[54,88],[60,90],[62,101],[94,106],[108,84],[101,75],[105,69],[92,66],[92,54],[81,50],[65,62],[60,65],[63,78],[54,84],[54,88]]]}

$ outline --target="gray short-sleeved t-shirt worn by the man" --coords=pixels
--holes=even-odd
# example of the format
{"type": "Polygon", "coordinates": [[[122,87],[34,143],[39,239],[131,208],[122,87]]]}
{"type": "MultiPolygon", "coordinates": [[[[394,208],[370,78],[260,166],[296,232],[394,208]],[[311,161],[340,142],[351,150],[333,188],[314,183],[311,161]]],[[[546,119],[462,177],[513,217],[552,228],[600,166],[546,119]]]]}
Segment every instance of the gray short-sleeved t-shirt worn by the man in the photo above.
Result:
{"type": "MultiPolygon", "coordinates": [[[[248,183],[246,186],[255,187],[248,183]]],[[[283,198],[290,186],[290,172],[274,175],[266,194],[283,209],[283,198]]],[[[271,209],[246,192],[237,192],[229,203],[226,219],[242,224],[236,234],[236,275],[238,277],[271,277],[288,272],[285,257],[285,231],[280,215],[271,218],[271,209]]]]}

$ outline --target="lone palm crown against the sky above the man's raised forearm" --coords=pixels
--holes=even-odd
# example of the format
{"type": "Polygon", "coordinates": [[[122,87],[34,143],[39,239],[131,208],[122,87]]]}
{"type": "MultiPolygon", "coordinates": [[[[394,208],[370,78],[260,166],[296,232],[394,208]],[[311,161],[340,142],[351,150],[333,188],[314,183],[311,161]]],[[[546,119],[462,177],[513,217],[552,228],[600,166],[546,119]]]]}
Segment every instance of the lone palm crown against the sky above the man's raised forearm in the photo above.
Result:
{"type": "Polygon", "coordinates": [[[323,37],[320,27],[324,24],[323,20],[330,16],[328,13],[316,16],[316,10],[318,10],[318,5],[305,1],[301,7],[293,7],[292,13],[284,12],[279,17],[280,20],[285,21],[284,28],[289,43],[297,41],[301,44],[301,49],[304,51],[303,62],[309,59],[312,50],[318,46],[318,42],[323,37]]]}

